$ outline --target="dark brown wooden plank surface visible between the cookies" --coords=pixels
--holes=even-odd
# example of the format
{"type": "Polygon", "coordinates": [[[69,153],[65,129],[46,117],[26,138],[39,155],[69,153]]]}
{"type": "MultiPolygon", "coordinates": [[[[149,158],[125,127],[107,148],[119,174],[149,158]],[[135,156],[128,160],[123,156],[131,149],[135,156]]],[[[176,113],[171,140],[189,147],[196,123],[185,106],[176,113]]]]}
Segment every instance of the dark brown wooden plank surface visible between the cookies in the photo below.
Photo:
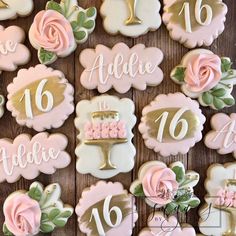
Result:
{"type": "MultiPolygon", "coordinates": [[[[16,20],[11,21],[4,21],[1,22],[1,24],[3,24],[4,26],[18,25],[24,28],[26,32],[28,32],[34,16],[38,11],[44,9],[47,0],[35,0],[34,2],[35,9],[30,16],[25,18],[18,18],[16,20]]],[[[80,0],[79,4],[84,8],[96,5],[97,9],[99,9],[101,2],[101,0],[80,0]]],[[[224,2],[228,5],[229,8],[226,21],[226,28],[223,34],[216,41],[214,41],[210,49],[220,56],[228,56],[232,58],[234,66],[236,67],[236,1],[225,0],[224,2]]],[[[52,65],[52,67],[54,69],[59,69],[63,71],[67,79],[74,85],[76,103],[82,99],[92,98],[93,96],[98,95],[98,92],[88,91],[84,89],[80,84],[80,75],[83,71],[83,68],[79,63],[79,54],[84,48],[93,48],[97,44],[105,44],[106,46],[112,47],[118,42],[125,42],[129,46],[133,46],[137,43],[144,43],[146,46],[159,47],[165,55],[165,59],[161,64],[161,68],[164,71],[165,78],[161,85],[152,88],[149,87],[146,91],[143,92],[132,89],[130,92],[122,96],[117,94],[115,91],[109,91],[109,94],[114,94],[119,97],[128,97],[135,102],[138,124],[140,122],[143,107],[150,103],[155,98],[155,96],[157,96],[158,94],[167,94],[180,91],[180,87],[175,85],[170,80],[169,74],[171,69],[180,62],[182,56],[188,51],[188,49],[180,45],[178,42],[173,41],[169,37],[168,31],[166,30],[164,24],[156,32],[150,32],[145,36],[139,37],[137,39],[130,39],[122,37],[120,35],[110,36],[104,31],[101,17],[98,14],[95,32],[89,37],[89,40],[85,44],[79,45],[74,54],[70,55],[67,58],[57,60],[52,65]]],[[[23,66],[25,68],[28,68],[29,66],[34,66],[38,64],[38,59],[37,52],[30,46],[28,38],[26,44],[32,52],[32,59],[30,63],[26,66],[23,66]]],[[[9,83],[12,82],[12,79],[15,77],[16,73],[17,71],[13,73],[4,72],[0,75],[1,94],[5,96],[7,95],[6,87],[9,83]]],[[[234,92],[234,95],[236,95],[236,91],[234,92]]],[[[234,106],[228,109],[224,109],[223,112],[232,113],[235,111],[236,108],[234,106]]],[[[207,131],[210,130],[210,117],[216,112],[205,108],[203,109],[203,112],[207,117],[207,122],[205,123],[204,129],[205,134],[207,131]]],[[[58,182],[59,184],[61,184],[63,189],[62,199],[64,202],[69,203],[72,206],[76,206],[80,199],[81,192],[85,187],[88,187],[98,181],[98,179],[90,175],[81,175],[76,172],[76,156],[74,154],[74,150],[76,144],[78,143],[78,140],[76,140],[77,131],[74,127],[74,118],[75,116],[71,115],[70,118],[65,122],[63,127],[61,127],[60,129],[50,130],[51,133],[62,132],[69,138],[69,145],[67,151],[71,154],[72,157],[72,162],[70,166],[63,170],[57,171],[54,175],[48,176],[41,174],[36,179],[37,181],[42,182],[44,185],[54,182],[58,182]]],[[[4,117],[0,120],[0,138],[14,139],[17,135],[21,133],[29,133],[32,135],[36,134],[36,132],[31,129],[17,125],[15,118],[11,116],[10,112],[6,111],[4,117]]],[[[129,189],[130,183],[137,177],[138,169],[140,165],[142,165],[144,162],[150,160],[161,160],[168,164],[174,161],[182,161],[185,167],[187,167],[187,169],[195,170],[200,173],[201,180],[195,188],[195,194],[201,198],[203,203],[203,197],[205,195],[203,183],[206,178],[206,171],[209,165],[212,163],[226,163],[234,161],[232,155],[220,156],[216,153],[216,151],[207,149],[202,141],[199,142],[194,148],[192,148],[187,155],[178,155],[163,158],[144,146],[144,142],[142,136],[138,132],[137,125],[135,126],[134,134],[135,136],[133,142],[137,148],[135,168],[130,173],[119,174],[118,176],[110,179],[111,181],[120,181],[127,189],[129,189]]],[[[15,184],[0,184],[0,228],[2,228],[2,224],[4,221],[2,205],[5,198],[10,193],[18,189],[28,189],[30,183],[32,182],[33,181],[20,179],[15,184]]],[[[133,235],[138,235],[138,232],[146,226],[146,219],[149,213],[151,212],[151,208],[145,205],[144,201],[141,199],[137,200],[137,207],[139,213],[139,220],[136,224],[133,235]]],[[[183,222],[187,221],[188,223],[194,225],[197,229],[198,210],[191,210],[188,214],[181,215],[180,219],[183,222]]],[[[2,232],[0,232],[0,235],[2,235],[2,232]]],[[[52,233],[52,235],[83,235],[79,231],[76,215],[73,215],[73,217],[69,220],[65,228],[56,230],[54,233],[52,233]]]]}

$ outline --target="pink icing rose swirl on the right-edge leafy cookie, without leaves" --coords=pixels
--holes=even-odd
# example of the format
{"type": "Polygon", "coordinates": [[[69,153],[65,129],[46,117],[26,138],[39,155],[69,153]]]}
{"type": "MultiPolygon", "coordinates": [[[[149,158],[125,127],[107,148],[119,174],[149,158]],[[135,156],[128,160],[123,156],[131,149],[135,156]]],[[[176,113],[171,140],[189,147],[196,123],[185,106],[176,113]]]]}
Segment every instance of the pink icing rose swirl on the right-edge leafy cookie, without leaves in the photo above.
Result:
{"type": "Polygon", "coordinates": [[[192,56],[185,71],[187,89],[202,93],[215,87],[221,80],[221,60],[215,54],[192,56]]]}

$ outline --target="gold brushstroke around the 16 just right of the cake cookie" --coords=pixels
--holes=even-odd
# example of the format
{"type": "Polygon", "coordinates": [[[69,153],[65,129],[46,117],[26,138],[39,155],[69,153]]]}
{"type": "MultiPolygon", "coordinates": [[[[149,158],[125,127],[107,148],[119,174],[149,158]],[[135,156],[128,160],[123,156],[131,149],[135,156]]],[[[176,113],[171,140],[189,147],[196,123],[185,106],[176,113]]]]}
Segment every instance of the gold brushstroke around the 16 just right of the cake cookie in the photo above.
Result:
{"type": "MultiPolygon", "coordinates": [[[[160,117],[164,112],[168,112],[168,118],[163,130],[163,143],[164,142],[176,142],[177,140],[174,140],[170,133],[169,133],[169,127],[170,123],[174,117],[174,115],[179,111],[181,108],[162,108],[158,110],[151,111],[147,113],[146,115],[146,124],[149,127],[149,135],[152,138],[157,138],[159,126],[160,126],[160,120],[156,123],[156,120],[158,117],[160,117]]],[[[188,122],[188,132],[185,135],[184,139],[193,137],[195,131],[197,130],[197,127],[199,126],[199,118],[191,111],[187,110],[182,116],[181,119],[185,119],[188,122]]],[[[181,124],[178,124],[175,129],[175,135],[178,135],[181,130],[181,124]]]]}

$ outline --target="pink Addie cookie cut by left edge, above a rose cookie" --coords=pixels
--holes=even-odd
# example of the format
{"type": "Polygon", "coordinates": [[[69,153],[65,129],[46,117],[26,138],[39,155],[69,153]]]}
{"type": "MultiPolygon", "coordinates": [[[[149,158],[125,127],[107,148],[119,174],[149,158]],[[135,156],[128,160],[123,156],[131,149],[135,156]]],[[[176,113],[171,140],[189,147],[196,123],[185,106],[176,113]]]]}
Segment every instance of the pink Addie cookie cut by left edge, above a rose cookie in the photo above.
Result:
{"type": "Polygon", "coordinates": [[[14,140],[0,139],[0,183],[16,182],[21,176],[34,179],[40,172],[53,174],[70,164],[63,134],[21,134],[14,140]]]}

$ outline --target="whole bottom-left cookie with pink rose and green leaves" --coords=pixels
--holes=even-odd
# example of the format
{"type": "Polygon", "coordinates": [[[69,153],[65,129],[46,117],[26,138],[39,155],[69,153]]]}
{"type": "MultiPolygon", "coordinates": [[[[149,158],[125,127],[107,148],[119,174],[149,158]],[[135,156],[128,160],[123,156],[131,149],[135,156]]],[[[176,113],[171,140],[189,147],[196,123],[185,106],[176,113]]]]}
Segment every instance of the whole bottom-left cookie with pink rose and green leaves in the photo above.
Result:
{"type": "Polygon", "coordinates": [[[64,227],[74,210],[60,198],[59,184],[44,189],[41,183],[34,182],[29,191],[12,193],[3,205],[4,235],[38,235],[64,227]]]}

